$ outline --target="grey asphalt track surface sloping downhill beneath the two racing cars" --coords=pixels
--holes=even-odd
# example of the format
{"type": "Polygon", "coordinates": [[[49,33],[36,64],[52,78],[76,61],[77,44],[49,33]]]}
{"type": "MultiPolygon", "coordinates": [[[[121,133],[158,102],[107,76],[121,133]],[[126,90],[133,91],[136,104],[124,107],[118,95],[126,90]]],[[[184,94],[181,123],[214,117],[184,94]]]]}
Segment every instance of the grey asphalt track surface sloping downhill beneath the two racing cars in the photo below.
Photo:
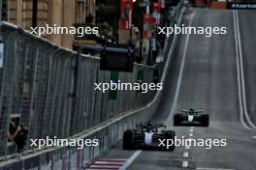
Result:
{"type": "Polygon", "coordinates": [[[235,28],[238,25],[236,13],[195,10],[184,15],[182,22],[186,25],[226,26],[227,34],[210,38],[179,36],[164,85],[164,96],[154,118],[156,122],[165,123],[168,128],[175,130],[179,138],[224,138],[227,139],[227,146],[208,150],[205,147],[180,146],[174,152],[123,151],[120,141],[101,159],[127,159],[128,163],[123,169],[130,170],[256,169],[256,131],[249,125],[245,106],[241,104],[245,97],[249,120],[255,124],[256,12],[239,11],[239,28],[235,28]],[[242,58],[242,71],[239,56],[242,58]],[[245,93],[242,93],[242,74],[245,93]],[[209,114],[208,128],[173,127],[174,114],[190,107],[203,109],[209,114]]]}

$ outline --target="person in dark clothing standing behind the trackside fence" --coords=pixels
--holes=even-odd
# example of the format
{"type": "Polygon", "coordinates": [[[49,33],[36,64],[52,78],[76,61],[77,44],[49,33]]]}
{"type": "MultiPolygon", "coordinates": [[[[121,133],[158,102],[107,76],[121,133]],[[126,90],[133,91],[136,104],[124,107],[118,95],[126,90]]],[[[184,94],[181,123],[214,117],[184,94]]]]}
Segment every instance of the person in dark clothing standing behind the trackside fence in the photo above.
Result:
{"type": "Polygon", "coordinates": [[[9,124],[8,140],[14,141],[16,143],[17,153],[21,153],[26,145],[28,130],[26,127],[18,124],[18,118],[12,118],[9,124]]]}

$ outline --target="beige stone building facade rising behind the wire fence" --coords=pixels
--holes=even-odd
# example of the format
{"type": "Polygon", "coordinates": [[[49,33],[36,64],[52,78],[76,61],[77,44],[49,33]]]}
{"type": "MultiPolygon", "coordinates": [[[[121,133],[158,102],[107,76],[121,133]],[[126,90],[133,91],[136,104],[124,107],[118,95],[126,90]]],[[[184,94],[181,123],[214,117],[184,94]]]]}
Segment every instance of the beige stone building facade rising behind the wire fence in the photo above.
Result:
{"type": "MultiPolygon", "coordinates": [[[[1,0],[0,2],[1,20],[14,23],[30,31],[30,27],[35,22],[33,20],[35,11],[36,26],[38,27],[45,27],[47,24],[49,26],[55,24],[58,27],[95,24],[95,0],[1,0]]],[[[70,49],[93,43],[86,38],[78,39],[76,35],[71,34],[50,34],[44,37],[57,45],[70,49]]]]}

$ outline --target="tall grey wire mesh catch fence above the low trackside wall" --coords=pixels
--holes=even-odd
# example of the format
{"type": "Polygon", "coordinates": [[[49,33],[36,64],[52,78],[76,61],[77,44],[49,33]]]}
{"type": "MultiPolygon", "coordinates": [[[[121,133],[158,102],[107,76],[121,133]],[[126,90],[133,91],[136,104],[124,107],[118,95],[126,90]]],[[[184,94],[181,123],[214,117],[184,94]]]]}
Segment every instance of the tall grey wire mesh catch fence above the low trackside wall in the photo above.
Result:
{"type": "MultiPolygon", "coordinates": [[[[0,68],[0,156],[6,149],[10,115],[20,114],[28,127],[28,138],[67,138],[103,123],[119,113],[144,106],[155,92],[94,91],[94,83],[110,82],[111,71],[100,71],[100,60],[80,59],[78,96],[74,88],[76,53],[39,39],[14,25],[1,23],[4,45],[0,68]]],[[[153,82],[153,69],[135,65],[134,72],[119,72],[121,82],[137,82],[139,70],[144,82],[153,82]]],[[[29,149],[29,148],[28,148],[29,149]]]]}

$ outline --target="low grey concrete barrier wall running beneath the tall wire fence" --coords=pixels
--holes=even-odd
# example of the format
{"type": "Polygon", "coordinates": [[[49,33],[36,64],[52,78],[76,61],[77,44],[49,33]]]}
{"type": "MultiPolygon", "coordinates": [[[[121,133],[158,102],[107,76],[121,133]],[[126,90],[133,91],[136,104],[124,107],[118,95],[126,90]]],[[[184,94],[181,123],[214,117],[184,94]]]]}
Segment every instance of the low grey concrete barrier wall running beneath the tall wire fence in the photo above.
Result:
{"type": "MultiPolygon", "coordinates": [[[[180,8],[180,11],[178,11],[179,16],[180,16],[180,13],[181,13],[181,8],[180,8]]],[[[180,18],[181,16],[179,17],[179,21],[180,21],[180,18]]],[[[161,82],[163,83],[165,81],[166,74],[170,69],[169,66],[170,66],[170,63],[172,62],[172,52],[174,51],[174,48],[175,48],[176,38],[175,39],[170,38],[168,40],[168,43],[172,44],[172,47],[171,48],[166,47],[166,53],[164,57],[165,63],[164,63],[164,67],[161,70],[162,72],[161,82]]],[[[61,58],[60,56],[58,57],[61,58]]],[[[94,59],[90,59],[90,58],[83,58],[82,60],[85,60],[90,64],[93,63],[92,61],[94,61],[94,59]]],[[[150,71],[150,72],[153,69],[153,68],[152,69],[144,68],[143,66],[135,66],[135,68],[137,71],[138,69],[144,69],[145,71],[150,71]]],[[[93,69],[93,68],[90,68],[90,69],[93,69]]],[[[54,71],[54,73],[56,72],[57,71],[54,71]]],[[[81,71],[81,72],[84,73],[85,71],[81,71]]],[[[135,78],[134,74],[124,73],[123,78],[129,79],[129,77],[131,76],[135,78]]],[[[147,97],[149,102],[144,101],[143,107],[139,109],[133,109],[132,111],[119,112],[119,114],[116,114],[116,116],[110,119],[109,121],[102,122],[101,124],[98,124],[98,126],[92,126],[91,128],[84,128],[85,131],[77,133],[77,135],[71,136],[73,138],[76,138],[76,137],[98,138],[99,141],[101,142],[100,142],[100,145],[97,147],[89,147],[89,148],[84,148],[82,150],[78,150],[76,148],[69,148],[69,147],[48,148],[48,149],[43,149],[41,151],[35,151],[34,154],[27,153],[27,155],[21,156],[21,158],[19,159],[16,159],[16,158],[10,159],[10,157],[8,158],[8,156],[6,156],[9,161],[1,162],[0,160],[0,169],[1,167],[6,167],[6,168],[8,167],[8,169],[12,169],[12,168],[13,169],[14,168],[15,169],[22,169],[22,168],[23,169],[24,168],[25,169],[43,168],[44,169],[44,167],[49,167],[51,169],[59,169],[61,165],[63,167],[65,166],[64,168],[66,169],[75,169],[75,168],[85,169],[85,167],[88,164],[90,164],[91,161],[94,160],[94,158],[110,150],[110,148],[112,148],[112,146],[114,146],[116,142],[119,139],[121,139],[122,132],[125,129],[133,128],[135,127],[136,124],[150,119],[158,107],[158,104],[161,99],[161,95],[162,95],[161,91],[157,92],[156,94],[151,94],[150,97],[147,97]]],[[[126,97],[130,97],[129,94],[126,94],[126,97]]],[[[140,98],[143,98],[143,97],[140,97],[140,98]]],[[[126,108],[127,107],[130,108],[129,105],[130,104],[132,105],[132,103],[129,103],[129,100],[125,100],[125,99],[121,100],[121,98],[118,98],[118,99],[120,99],[118,100],[118,103],[120,104],[122,104],[123,102],[126,103],[124,104],[126,105],[126,108]]],[[[114,102],[112,101],[112,103],[109,103],[109,104],[114,104],[114,102]]],[[[129,109],[126,109],[126,110],[129,110],[129,109]]],[[[96,116],[98,117],[99,115],[95,115],[95,117],[96,116]]],[[[100,121],[98,120],[98,122],[100,121]]]]}

